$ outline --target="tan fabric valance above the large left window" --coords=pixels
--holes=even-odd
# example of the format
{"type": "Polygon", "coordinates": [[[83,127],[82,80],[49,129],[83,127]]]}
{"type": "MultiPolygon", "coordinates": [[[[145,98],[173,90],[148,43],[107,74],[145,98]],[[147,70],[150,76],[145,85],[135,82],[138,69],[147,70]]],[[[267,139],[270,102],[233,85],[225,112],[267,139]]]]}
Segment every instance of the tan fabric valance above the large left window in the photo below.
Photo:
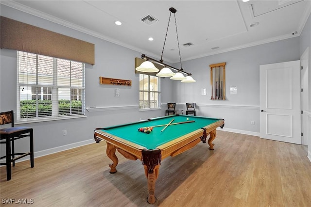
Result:
{"type": "Polygon", "coordinates": [[[1,16],[0,48],[95,64],[94,44],[1,16]]]}

